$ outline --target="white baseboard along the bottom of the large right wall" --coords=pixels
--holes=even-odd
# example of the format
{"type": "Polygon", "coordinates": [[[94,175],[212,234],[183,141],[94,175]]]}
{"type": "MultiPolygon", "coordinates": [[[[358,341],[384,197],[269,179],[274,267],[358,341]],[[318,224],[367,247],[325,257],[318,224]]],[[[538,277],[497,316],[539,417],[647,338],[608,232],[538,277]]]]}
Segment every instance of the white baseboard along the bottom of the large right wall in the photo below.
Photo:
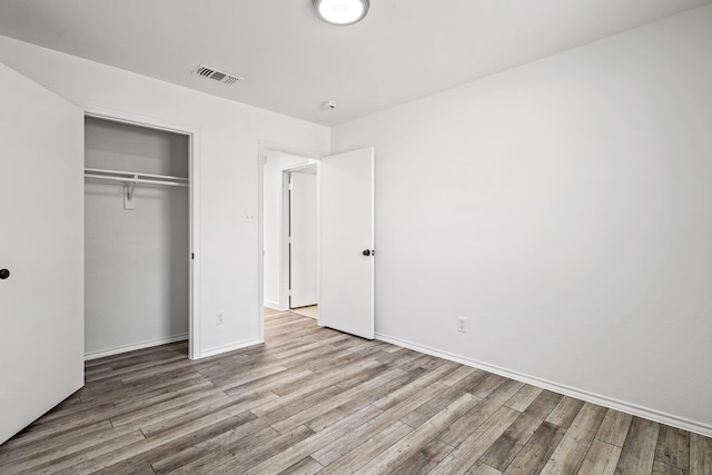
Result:
{"type": "Polygon", "coordinates": [[[565,396],[582,399],[589,403],[597,404],[600,406],[609,407],[611,409],[620,410],[622,413],[631,414],[633,416],[643,417],[656,423],[665,424],[672,427],[678,427],[683,431],[690,431],[695,434],[703,435],[705,437],[712,437],[712,426],[709,424],[699,423],[696,420],[690,420],[684,417],[679,417],[672,414],[662,413],[660,410],[642,407],[636,404],[626,403],[624,400],[614,399],[611,397],[602,396],[586,390],[576,389],[574,387],[561,385],[546,379],[541,379],[535,376],[525,375],[522,373],[513,372],[498,366],[490,365],[487,363],[478,362],[476,359],[465,358],[452,353],[442,352],[439,349],[429,348],[411,342],[406,342],[399,338],[390,337],[388,335],[376,334],[376,339],[380,342],[390,343],[393,345],[402,346],[404,348],[414,349],[426,355],[437,356],[443,359],[459,363],[463,365],[472,366],[474,368],[484,369],[485,372],[494,373],[500,376],[515,379],[521,383],[530,384],[532,386],[548,389],[554,393],[563,394],[565,396]]]}

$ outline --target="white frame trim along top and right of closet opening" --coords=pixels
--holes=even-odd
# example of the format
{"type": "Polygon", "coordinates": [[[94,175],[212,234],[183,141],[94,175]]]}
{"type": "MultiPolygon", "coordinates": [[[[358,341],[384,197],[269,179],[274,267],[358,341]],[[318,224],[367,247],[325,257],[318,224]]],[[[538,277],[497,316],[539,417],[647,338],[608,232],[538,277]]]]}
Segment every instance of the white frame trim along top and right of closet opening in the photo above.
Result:
{"type": "Polygon", "coordinates": [[[200,129],[152,117],[108,109],[93,105],[77,105],[85,117],[110,120],[148,129],[180,133],[188,137],[188,358],[200,356],[200,129]]]}

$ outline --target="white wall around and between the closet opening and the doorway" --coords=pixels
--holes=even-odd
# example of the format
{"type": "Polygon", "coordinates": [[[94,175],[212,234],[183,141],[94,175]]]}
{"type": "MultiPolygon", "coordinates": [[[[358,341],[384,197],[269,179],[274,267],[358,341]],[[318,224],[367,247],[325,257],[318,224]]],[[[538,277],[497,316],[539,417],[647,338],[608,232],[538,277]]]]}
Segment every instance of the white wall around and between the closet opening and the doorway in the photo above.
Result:
{"type": "Polygon", "coordinates": [[[198,130],[199,345],[208,355],[257,343],[259,227],[243,216],[258,212],[259,144],[325,155],[329,130],[6,37],[0,61],[75,103],[198,130]]]}

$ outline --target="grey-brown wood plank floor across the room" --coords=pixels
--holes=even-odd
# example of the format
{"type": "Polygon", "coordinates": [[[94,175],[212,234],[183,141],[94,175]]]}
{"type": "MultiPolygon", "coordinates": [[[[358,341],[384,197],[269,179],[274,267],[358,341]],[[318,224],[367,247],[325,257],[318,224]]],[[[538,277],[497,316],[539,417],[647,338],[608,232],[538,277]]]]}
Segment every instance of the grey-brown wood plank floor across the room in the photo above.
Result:
{"type": "Polygon", "coordinates": [[[264,346],[88,362],[1,474],[712,474],[712,441],[267,311],[264,346]]]}

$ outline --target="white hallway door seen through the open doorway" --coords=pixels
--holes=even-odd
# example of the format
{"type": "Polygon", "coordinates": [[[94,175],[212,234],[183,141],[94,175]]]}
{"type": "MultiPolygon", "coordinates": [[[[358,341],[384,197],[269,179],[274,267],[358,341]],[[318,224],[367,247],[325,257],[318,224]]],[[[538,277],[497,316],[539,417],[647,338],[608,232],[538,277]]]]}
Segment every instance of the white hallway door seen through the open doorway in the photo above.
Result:
{"type": "Polygon", "coordinates": [[[318,298],[316,166],[290,177],[289,307],[298,308],[316,305],[318,298]]]}

